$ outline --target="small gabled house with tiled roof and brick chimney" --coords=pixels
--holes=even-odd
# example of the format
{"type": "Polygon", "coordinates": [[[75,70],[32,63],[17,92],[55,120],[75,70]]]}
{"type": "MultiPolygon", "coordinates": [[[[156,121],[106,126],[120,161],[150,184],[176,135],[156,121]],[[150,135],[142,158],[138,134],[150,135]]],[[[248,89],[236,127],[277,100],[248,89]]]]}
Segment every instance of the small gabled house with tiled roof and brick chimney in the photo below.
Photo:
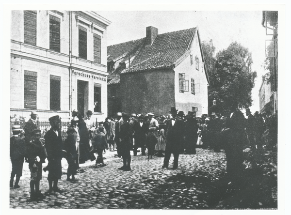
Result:
{"type": "Polygon", "coordinates": [[[198,27],[158,34],[107,47],[108,115],[116,112],[208,113],[209,77],[198,27]]]}

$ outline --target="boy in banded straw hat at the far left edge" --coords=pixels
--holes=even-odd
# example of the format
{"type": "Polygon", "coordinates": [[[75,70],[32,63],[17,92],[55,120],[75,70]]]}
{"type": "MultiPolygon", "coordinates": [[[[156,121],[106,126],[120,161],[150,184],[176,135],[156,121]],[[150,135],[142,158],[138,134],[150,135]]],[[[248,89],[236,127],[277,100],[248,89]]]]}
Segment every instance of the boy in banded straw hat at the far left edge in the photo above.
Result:
{"type": "Polygon", "coordinates": [[[16,181],[14,188],[19,188],[18,185],[20,177],[22,176],[22,167],[25,154],[25,145],[23,138],[20,138],[22,129],[20,125],[14,125],[12,127],[13,136],[10,138],[10,158],[12,163],[12,171],[10,177],[10,187],[13,187],[14,177],[16,181]]]}

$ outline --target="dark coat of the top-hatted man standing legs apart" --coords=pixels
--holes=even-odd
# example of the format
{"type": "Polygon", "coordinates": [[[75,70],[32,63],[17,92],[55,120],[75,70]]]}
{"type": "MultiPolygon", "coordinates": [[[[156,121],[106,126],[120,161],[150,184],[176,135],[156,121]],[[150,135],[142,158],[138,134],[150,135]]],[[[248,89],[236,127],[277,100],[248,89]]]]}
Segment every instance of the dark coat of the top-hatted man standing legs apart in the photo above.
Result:
{"type": "Polygon", "coordinates": [[[166,144],[166,151],[170,150],[172,152],[180,151],[181,143],[183,140],[183,128],[184,122],[176,118],[176,122],[174,126],[172,125],[172,120],[167,122],[167,144],[166,144]]]}

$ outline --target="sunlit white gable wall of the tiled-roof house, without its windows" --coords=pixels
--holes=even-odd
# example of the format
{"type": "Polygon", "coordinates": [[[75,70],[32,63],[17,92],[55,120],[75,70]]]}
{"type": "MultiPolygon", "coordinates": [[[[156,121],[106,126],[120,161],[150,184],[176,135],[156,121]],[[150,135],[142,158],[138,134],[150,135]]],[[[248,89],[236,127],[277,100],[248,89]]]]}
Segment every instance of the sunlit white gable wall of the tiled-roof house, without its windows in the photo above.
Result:
{"type": "MultiPolygon", "coordinates": [[[[197,31],[197,30],[196,30],[197,31]]],[[[208,80],[204,69],[203,57],[201,48],[199,46],[198,34],[194,35],[190,53],[187,53],[181,59],[181,62],[174,69],[175,70],[175,103],[176,108],[184,111],[186,115],[188,111],[192,111],[192,107],[196,107],[196,115],[208,114],[208,80]],[[193,63],[191,64],[191,56],[193,63]],[[198,68],[196,69],[196,59],[198,59],[198,68]],[[179,74],[185,74],[186,91],[180,92],[179,90],[179,74]],[[195,92],[191,89],[191,79],[194,79],[195,92]],[[176,84],[177,83],[177,84],[176,84]]]]}

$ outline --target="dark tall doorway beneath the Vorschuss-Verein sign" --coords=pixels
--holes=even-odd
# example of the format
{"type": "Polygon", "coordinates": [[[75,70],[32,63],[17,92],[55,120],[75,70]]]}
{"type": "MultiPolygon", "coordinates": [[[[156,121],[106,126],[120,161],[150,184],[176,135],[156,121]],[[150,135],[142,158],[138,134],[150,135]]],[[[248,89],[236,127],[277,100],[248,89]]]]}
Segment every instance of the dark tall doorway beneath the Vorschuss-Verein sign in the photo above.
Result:
{"type": "Polygon", "coordinates": [[[85,111],[88,110],[88,81],[78,80],[77,85],[77,107],[81,116],[84,117],[85,111]]]}

